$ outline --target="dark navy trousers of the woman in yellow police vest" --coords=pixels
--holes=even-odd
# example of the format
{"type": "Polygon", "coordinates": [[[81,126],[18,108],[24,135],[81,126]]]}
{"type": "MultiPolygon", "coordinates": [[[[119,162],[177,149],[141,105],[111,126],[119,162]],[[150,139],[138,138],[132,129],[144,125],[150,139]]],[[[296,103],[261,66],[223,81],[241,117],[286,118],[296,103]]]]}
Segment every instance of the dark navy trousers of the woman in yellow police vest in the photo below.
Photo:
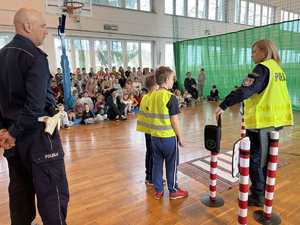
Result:
{"type": "Polygon", "coordinates": [[[246,135],[251,141],[250,180],[251,193],[263,197],[266,186],[267,164],[269,154],[269,136],[274,128],[247,130],[246,135]]]}

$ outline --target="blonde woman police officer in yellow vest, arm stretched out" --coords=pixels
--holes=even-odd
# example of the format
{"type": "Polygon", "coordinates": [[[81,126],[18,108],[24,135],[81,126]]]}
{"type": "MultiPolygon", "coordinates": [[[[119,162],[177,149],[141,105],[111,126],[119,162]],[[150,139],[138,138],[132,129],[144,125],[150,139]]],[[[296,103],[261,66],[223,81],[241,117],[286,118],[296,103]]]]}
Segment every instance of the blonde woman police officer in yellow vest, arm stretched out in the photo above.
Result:
{"type": "Polygon", "coordinates": [[[262,207],[266,185],[269,133],[293,125],[291,101],[286,74],[274,43],[259,40],[252,45],[252,59],[256,64],[241,87],[232,91],[216,109],[216,118],[243,101],[246,135],[251,141],[251,195],[248,205],[262,207]]]}

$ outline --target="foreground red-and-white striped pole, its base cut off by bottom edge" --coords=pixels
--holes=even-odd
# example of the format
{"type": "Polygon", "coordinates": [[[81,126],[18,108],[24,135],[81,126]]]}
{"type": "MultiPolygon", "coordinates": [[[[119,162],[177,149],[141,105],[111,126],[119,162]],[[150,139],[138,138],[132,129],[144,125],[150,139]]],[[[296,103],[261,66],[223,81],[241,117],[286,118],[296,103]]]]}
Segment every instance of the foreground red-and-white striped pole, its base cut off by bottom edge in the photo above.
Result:
{"type": "Polygon", "coordinates": [[[249,193],[250,139],[245,137],[240,142],[240,178],[238,225],[247,225],[249,193]]]}

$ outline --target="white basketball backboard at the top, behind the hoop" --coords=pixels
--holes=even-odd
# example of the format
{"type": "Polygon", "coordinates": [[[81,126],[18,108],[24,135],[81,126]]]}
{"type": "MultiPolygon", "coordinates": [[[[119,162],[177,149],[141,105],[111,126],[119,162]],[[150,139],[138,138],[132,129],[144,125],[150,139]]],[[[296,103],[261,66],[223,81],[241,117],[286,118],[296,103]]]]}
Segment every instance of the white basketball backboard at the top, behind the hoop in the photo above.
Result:
{"type": "MultiPolygon", "coordinates": [[[[56,15],[67,14],[63,12],[65,1],[66,0],[45,0],[46,12],[56,15]]],[[[79,14],[80,17],[92,16],[92,0],[68,0],[68,2],[81,2],[84,4],[79,14]]]]}

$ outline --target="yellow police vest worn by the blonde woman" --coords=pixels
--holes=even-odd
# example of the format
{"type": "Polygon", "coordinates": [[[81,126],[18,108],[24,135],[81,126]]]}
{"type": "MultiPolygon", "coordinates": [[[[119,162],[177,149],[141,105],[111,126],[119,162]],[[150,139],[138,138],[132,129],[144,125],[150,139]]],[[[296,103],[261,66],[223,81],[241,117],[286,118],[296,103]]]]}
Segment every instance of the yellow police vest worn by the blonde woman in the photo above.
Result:
{"type": "Polygon", "coordinates": [[[286,75],[273,59],[260,63],[270,71],[269,83],[263,92],[244,101],[247,129],[293,125],[293,112],[288,94],[286,75]]]}

